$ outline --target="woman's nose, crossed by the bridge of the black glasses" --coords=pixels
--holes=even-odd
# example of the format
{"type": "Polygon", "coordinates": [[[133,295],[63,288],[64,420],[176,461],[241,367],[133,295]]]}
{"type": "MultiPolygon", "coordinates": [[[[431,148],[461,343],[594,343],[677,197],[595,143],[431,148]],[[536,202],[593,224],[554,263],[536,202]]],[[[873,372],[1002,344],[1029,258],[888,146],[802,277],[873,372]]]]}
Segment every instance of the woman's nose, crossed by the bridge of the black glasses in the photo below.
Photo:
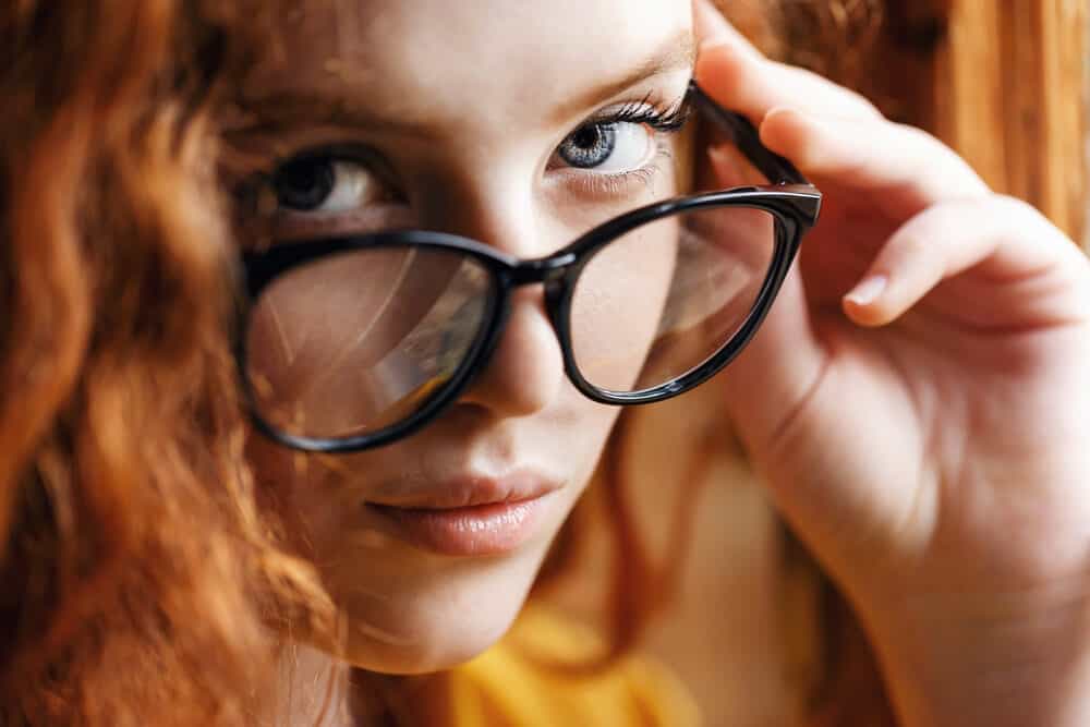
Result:
{"type": "MultiPolygon", "coordinates": [[[[470,195],[467,195],[470,196],[470,195]]],[[[562,231],[548,231],[533,201],[494,191],[444,205],[431,227],[477,240],[517,257],[545,255],[565,244],[562,231]]],[[[528,416],[546,409],[565,381],[564,355],[545,311],[541,284],[513,291],[507,324],[484,367],[460,401],[499,417],[528,416]]]]}

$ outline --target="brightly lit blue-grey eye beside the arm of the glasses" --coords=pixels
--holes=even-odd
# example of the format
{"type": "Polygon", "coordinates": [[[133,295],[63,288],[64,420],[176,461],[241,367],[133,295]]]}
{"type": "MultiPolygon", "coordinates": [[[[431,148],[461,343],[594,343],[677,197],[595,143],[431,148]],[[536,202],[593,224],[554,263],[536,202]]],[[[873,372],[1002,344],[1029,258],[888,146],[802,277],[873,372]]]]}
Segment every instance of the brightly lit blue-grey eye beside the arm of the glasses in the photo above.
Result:
{"type": "Polygon", "coordinates": [[[655,132],[646,124],[596,121],[577,129],[556,154],[568,167],[619,174],[646,165],[655,148],[655,132]]]}

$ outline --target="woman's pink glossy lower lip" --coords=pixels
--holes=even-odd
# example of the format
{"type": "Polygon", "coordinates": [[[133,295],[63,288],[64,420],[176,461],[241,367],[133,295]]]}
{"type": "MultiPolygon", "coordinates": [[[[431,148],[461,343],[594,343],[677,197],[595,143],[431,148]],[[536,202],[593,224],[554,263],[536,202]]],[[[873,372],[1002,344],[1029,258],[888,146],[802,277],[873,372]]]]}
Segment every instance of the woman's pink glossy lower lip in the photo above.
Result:
{"type": "Polygon", "coordinates": [[[533,538],[553,495],[447,510],[371,507],[392,520],[417,547],[445,556],[482,557],[510,553],[533,538]]]}

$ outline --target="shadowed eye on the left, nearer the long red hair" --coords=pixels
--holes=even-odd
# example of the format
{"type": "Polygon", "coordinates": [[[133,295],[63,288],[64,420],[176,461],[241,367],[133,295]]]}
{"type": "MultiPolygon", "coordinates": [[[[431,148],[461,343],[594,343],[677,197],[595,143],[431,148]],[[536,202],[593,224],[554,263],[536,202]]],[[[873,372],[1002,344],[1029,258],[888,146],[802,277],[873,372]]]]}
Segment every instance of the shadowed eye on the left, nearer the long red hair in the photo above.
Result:
{"type": "Polygon", "coordinates": [[[277,205],[288,211],[337,213],[385,198],[379,180],[362,163],[307,157],[281,165],[272,174],[277,205]]]}

